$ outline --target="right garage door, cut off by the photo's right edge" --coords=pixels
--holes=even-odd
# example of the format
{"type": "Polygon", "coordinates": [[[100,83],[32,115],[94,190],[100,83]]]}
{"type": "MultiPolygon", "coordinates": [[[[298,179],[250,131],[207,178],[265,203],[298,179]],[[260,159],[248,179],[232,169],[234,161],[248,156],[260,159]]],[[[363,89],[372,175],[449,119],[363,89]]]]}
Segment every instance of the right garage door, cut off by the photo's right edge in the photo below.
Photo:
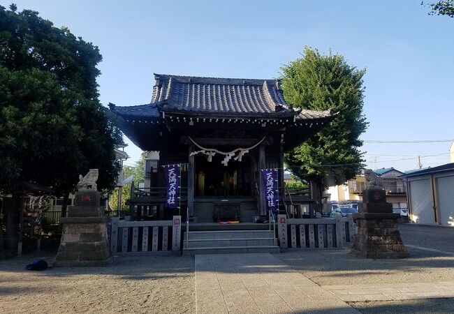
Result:
{"type": "Polygon", "coordinates": [[[441,225],[454,225],[454,176],[436,180],[441,225]]]}

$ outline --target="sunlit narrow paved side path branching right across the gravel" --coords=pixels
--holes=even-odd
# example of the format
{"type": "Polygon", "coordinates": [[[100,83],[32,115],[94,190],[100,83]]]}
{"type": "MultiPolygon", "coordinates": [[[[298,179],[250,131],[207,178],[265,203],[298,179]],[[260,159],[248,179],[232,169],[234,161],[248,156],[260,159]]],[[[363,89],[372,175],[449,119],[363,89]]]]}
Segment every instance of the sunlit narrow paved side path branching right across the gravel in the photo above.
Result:
{"type": "Polygon", "coordinates": [[[347,302],[454,298],[454,281],[381,285],[323,285],[322,287],[347,302]]]}

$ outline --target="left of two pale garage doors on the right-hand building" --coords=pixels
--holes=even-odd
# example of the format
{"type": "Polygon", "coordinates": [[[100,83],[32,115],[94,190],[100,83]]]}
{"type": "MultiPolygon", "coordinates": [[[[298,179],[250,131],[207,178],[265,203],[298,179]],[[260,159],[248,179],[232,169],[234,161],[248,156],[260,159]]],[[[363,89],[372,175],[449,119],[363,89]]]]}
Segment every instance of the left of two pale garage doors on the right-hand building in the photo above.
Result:
{"type": "Polygon", "coordinates": [[[430,179],[410,181],[411,220],[414,223],[435,223],[430,179]]]}

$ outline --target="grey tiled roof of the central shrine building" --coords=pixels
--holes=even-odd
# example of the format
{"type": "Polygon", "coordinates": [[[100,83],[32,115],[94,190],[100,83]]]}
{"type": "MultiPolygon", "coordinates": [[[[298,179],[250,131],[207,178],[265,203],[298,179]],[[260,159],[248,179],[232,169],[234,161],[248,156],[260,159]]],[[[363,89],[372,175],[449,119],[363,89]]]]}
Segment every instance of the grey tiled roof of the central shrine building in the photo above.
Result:
{"type": "Polygon", "coordinates": [[[194,114],[270,115],[302,122],[332,119],[331,110],[293,110],[282,94],[280,80],[252,80],[219,77],[189,77],[155,74],[152,101],[146,105],[119,107],[110,110],[122,117],[158,119],[161,111],[194,114]]]}

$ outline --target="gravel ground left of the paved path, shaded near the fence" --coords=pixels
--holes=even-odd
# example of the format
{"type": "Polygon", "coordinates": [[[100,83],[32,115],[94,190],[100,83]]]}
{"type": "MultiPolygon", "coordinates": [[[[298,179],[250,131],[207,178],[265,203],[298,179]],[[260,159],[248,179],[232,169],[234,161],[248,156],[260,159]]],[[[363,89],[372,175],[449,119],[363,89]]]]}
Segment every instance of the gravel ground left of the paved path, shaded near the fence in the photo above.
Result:
{"type": "Polygon", "coordinates": [[[35,257],[0,261],[1,313],[195,312],[193,257],[120,257],[109,267],[24,271],[35,257]]]}

